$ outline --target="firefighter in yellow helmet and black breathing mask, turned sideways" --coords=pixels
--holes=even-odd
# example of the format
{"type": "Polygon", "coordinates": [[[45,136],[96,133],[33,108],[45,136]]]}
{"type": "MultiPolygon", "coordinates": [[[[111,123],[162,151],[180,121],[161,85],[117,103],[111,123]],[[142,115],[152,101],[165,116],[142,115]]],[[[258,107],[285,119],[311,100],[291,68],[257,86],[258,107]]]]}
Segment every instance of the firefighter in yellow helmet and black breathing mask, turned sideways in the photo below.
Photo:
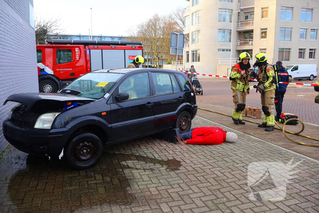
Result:
{"type": "Polygon", "coordinates": [[[265,53],[258,53],[256,56],[256,63],[254,67],[258,67],[257,73],[252,75],[258,81],[258,90],[261,95],[261,104],[263,110],[263,123],[258,127],[266,128],[265,131],[270,132],[274,130],[275,126],[275,90],[276,77],[274,68],[267,63],[267,55],[265,53]]]}

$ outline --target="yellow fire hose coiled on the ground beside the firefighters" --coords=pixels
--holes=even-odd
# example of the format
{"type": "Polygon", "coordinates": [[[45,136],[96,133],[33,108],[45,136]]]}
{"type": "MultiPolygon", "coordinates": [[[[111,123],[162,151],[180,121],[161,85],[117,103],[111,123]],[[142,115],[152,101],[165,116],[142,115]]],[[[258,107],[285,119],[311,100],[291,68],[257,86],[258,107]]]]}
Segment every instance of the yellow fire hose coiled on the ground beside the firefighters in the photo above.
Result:
{"type": "MultiPolygon", "coordinates": [[[[200,110],[205,110],[205,109],[202,109],[202,108],[198,108],[200,110]]],[[[227,115],[227,114],[224,114],[224,113],[220,113],[220,112],[215,112],[215,111],[212,111],[212,110],[205,110],[205,111],[209,111],[209,112],[213,112],[213,113],[217,113],[217,114],[220,114],[220,115],[225,115],[225,116],[228,116],[228,117],[232,117],[231,115],[227,115]]],[[[254,124],[261,124],[261,123],[257,123],[255,121],[251,121],[251,120],[247,120],[247,119],[242,119],[244,121],[247,121],[247,122],[251,122],[251,123],[254,123],[254,124]]],[[[300,134],[303,132],[303,130],[305,129],[305,125],[303,124],[303,122],[297,118],[290,118],[288,120],[286,120],[286,122],[283,124],[283,126],[279,126],[278,123],[275,121],[276,125],[279,127],[274,127],[275,129],[278,129],[278,130],[282,130],[282,132],[284,133],[284,135],[286,136],[286,138],[294,143],[297,143],[297,144],[300,144],[300,145],[304,145],[304,146],[310,146],[310,147],[319,147],[319,145],[315,145],[315,144],[308,144],[308,143],[302,143],[302,142],[299,142],[299,141],[295,141],[291,138],[288,137],[288,135],[286,133],[290,133],[290,134],[294,134],[294,135],[298,135],[298,136],[301,136],[301,137],[305,137],[305,138],[309,138],[311,140],[315,140],[315,141],[319,141],[319,139],[317,138],[313,138],[313,137],[310,137],[310,136],[307,136],[307,135],[303,135],[303,134],[300,134]],[[294,133],[294,132],[291,132],[291,131],[288,131],[288,130],[285,130],[285,126],[286,126],[286,123],[288,121],[291,121],[291,120],[297,120],[301,123],[302,125],[302,129],[297,132],[297,133],[294,133]]]]}

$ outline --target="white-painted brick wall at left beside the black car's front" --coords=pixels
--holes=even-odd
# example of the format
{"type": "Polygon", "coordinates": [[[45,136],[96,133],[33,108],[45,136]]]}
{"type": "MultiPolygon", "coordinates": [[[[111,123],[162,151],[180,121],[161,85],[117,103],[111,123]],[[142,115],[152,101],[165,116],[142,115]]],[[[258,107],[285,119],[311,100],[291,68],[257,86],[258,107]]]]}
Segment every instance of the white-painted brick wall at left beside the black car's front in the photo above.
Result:
{"type": "Polygon", "coordinates": [[[29,22],[29,2],[0,0],[0,153],[8,142],[2,123],[16,103],[2,105],[12,94],[38,92],[35,32],[29,22]]]}

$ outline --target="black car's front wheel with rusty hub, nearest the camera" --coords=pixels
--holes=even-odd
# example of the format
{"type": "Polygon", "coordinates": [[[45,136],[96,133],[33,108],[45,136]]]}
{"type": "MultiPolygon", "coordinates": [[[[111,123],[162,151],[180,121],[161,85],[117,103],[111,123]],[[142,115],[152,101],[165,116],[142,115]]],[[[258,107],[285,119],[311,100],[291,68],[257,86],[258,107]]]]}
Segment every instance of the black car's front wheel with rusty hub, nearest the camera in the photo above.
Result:
{"type": "Polygon", "coordinates": [[[75,136],[64,147],[66,162],[74,169],[83,170],[93,167],[103,154],[103,144],[100,138],[92,133],[82,133],[75,136]]]}

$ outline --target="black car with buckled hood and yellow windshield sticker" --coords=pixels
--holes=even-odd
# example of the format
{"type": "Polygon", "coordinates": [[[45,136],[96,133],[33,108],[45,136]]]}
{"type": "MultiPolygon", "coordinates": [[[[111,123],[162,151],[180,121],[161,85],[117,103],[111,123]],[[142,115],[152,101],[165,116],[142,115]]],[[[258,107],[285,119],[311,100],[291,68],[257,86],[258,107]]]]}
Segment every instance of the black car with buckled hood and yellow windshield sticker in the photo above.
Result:
{"type": "Polygon", "coordinates": [[[111,69],[89,72],[55,94],[22,93],[3,123],[17,149],[64,155],[76,169],[93,167],[103,145],[178,128],[186,132],[197,113],[187,76],[163,69],[111,69]]]}

